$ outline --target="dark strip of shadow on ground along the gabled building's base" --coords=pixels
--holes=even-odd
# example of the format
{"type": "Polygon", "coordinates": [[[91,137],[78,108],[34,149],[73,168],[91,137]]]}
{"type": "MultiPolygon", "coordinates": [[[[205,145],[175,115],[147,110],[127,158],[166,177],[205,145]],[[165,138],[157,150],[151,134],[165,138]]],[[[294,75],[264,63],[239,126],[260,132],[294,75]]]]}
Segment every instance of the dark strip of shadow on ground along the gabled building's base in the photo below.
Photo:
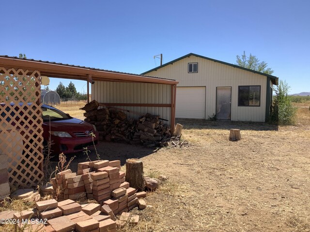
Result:
{"type": "Polygon", "coordinates": [[[265,122],[240,122],[229,120],[208,121],[205,119],[176,118],[176,123],[183,125],[184,129],[217,129],[229,130],[237,128],[249,131],[278,131],[277,125],[265,122]]]}

